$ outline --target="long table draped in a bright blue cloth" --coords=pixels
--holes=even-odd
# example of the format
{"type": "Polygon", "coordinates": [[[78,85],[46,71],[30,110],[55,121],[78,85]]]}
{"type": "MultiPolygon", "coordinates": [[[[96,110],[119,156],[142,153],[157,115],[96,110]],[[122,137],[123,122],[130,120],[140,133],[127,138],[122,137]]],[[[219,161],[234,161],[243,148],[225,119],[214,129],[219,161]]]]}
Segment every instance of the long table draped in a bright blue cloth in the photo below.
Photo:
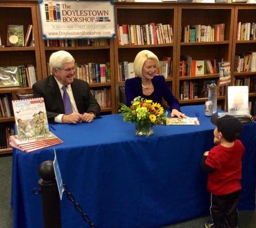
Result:
{"type": "MultiPolygon", "coordinates": [[[[121,115],[106,115],[91,124],[55,124],[64,143],[54,146],[64,184],[91,221],[100,228],[149,228],[209,214],[207,174],[202,154],[213,146],[214,125],[203,105],[181,108],[199,112],[199,126],[157,126],[150,137],[135,136],[135,125],[121,115]]],[[[256,123],[245,124],[241,140],[242,198],[239,209],[255,209],[256,123]]],[[[14,226],[42,227],[38,166],[53,160],[53,147],[30,154],[13,151],[11,205],[14,226]]],[[[87,227],[65,194],[62,227],[87,227]]]]}

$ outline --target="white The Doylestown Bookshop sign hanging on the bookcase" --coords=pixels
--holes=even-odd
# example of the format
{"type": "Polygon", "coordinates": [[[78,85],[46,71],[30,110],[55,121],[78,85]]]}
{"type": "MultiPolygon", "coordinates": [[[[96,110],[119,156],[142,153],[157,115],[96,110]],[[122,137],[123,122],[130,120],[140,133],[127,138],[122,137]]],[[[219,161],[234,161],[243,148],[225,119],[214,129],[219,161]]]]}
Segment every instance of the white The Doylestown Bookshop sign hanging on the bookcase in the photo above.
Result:
{"type": "Polygon", "coordinates": [[[114,1],[39,0],[43,39],[114,38],[114,1]]]}

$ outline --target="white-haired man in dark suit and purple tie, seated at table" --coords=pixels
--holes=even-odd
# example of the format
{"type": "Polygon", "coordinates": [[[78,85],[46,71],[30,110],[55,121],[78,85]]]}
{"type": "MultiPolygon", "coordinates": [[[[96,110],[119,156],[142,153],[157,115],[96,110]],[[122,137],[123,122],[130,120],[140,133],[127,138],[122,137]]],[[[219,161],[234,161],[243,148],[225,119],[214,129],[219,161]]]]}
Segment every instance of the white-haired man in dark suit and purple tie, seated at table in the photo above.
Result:
{"type": "Polygon", "coordinates": [[[51,54],[52,75],[33,85],[34,97],[43,97],[50,123],[90,123],[101,108],[90,92],[89,84],[74,78],[75,60],[67,51],[51,54]]]}

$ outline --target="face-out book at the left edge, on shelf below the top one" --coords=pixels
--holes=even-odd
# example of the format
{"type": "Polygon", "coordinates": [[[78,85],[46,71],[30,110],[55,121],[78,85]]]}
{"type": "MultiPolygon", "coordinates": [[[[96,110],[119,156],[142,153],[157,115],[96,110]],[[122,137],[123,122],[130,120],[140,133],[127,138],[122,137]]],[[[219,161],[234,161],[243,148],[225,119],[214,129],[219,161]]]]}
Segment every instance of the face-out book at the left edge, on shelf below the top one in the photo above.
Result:
{"type": "Polygon", "coordinates": [[[0,67],[0,87],[19,86],[18,67],[0,67]]]}

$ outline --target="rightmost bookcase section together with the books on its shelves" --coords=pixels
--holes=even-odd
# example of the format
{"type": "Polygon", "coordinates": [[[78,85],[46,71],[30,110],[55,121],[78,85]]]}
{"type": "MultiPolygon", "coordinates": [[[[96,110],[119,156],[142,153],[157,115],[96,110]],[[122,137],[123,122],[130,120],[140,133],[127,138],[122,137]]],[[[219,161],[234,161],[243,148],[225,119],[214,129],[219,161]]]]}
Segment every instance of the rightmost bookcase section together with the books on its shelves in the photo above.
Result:
{"type": "MultiPolygon", "coordinates": [[[[253,23],[256,25],[256,6],[255,5],[236,5],[234,12],[234,32],[233,32],[233,50],[232,50],[232,63],[231,72],[233,72],[233,83],[234,85],[240,86],[249,86],[249,101],[251,106],[251,115],[256,115],[256,70],[255,66],[251,69],[250,61],[251,54],[256,53],[256,38],[255,35],[249,35],[253,27],[253,23]],[[239,26],[240,22],[240,26],[239,26]],[[250,23],[250,25],[248,25],[250,23]],[[242,26],[241,26],[242,25],[242,26]],[[243,25],[245,26],[243,28],[243,25]],[[247,35],[243,36],[243,30],[247,31],[247,35]],[[251,36],[251,37],[250,37],[251,36]],[[239,56],[239,57],[238,57],[239,56]],[[245,56],[248,56],[248,60],[244,61],[244,67],[241,70],[238,70],[238,58],[246,59],[245,56]],[[247,63],[245,63],[247,62],[247,63]],[[246,67],[246,65],[250,65],[246,67]],[[247,68],[247,69],[246,69],[247,68]]],[[[255,26],[254,25],[254,26],[255,26]]],[[[256,28],[253,28],[255,31],[256,28]]],[[[245,33],[245,32],[244,32],[245,33]]],[[[254,32],[255,34],[255,32],[254,32]]],[[[254,62],[255,63],[255,62],[254,62]]],[[[251,64],[253,64],[251,62],[251,64]]]]}

